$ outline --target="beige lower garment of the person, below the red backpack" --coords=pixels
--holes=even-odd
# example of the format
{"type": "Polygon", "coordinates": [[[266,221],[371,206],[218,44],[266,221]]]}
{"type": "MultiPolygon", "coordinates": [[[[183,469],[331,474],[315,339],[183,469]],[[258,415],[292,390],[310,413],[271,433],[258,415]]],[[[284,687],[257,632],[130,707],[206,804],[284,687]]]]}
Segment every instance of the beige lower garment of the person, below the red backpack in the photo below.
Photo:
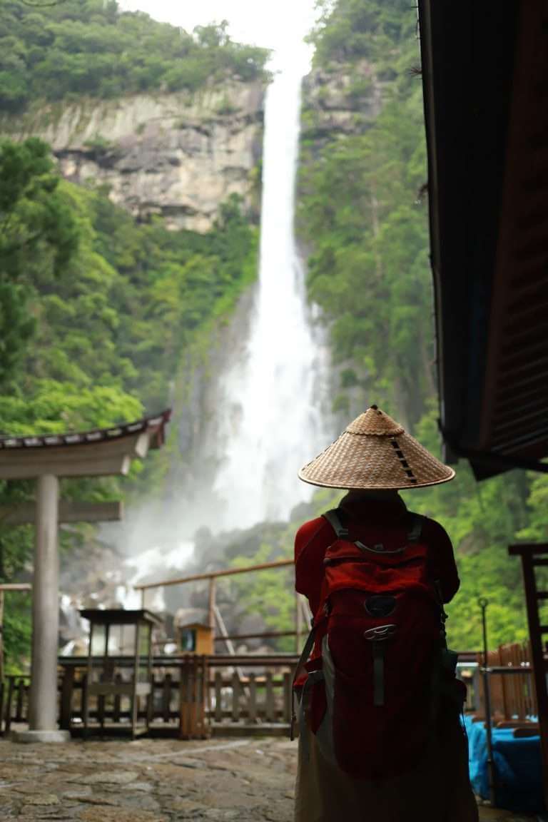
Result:
{"type": "Polygon", "coordinates": [[[457,715],[444,718],[443,730],[415,769],[379,783],[344,774],[321,755],[307,726],[304,733],[295,822],[477,822],[467,742],[457,715]]]}

